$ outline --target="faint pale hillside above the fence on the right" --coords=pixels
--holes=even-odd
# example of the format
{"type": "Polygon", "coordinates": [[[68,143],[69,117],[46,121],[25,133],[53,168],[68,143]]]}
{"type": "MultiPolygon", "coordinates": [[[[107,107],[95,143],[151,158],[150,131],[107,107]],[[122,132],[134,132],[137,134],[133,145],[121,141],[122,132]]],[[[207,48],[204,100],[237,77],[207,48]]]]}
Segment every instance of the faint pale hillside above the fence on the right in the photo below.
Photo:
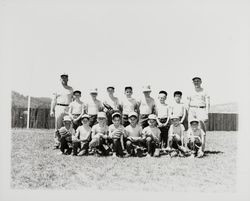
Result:
{"type": "Polygon", "coordinates": [[[218,104],[210,107],[211,113],[238,113],[238,110],[237,103],[218,104]]]}

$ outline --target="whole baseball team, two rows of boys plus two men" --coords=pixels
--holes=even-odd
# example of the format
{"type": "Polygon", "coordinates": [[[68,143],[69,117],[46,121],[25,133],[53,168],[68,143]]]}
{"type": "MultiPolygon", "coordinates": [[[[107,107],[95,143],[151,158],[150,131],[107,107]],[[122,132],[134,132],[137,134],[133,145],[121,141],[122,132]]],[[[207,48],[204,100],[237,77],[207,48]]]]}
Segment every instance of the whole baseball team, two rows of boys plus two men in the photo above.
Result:
{"type": "Polygon", "coordinates": [[[67,83],[68,75],[61,75],[61,90],[51,103],[51,116],[56,120],[55,148],[60,148],[61,153],[159,156],[164,150],[171,156],[203,156],[209,97],[201,87],[201,78],[193,78],[190,125],[181,91],[174,92],[175,104],[171,107],[165,103],[167,92],[160,91],[156,103],[150,96],[150,86],[143,88],[144,98],[140,101],[132,97],[131,86],[125,87],[123,101],[114,96],[115,88],[109,86],[107,100],[98,100],[98,91],[93,89],[91,101],[83,103],[81,91],[73,91],[67,83]]]}

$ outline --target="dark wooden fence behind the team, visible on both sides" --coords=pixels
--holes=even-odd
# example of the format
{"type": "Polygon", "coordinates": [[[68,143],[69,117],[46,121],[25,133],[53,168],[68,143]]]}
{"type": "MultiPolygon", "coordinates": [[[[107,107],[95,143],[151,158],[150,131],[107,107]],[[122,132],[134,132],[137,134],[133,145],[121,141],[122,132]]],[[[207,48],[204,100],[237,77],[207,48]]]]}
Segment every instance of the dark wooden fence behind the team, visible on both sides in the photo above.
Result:
{"type": "MultiPolygon", "coordinates": [[[[27,108],[12,107],[11,127],[25,128],[27,125],[27,108]]],[[[55,128],[55,119],[50,117],[50,109],[31,108],[30,128],[55,128]]],[[[237,131],[238,114],[231,113],[210,113],[209,131],[237,131]]]]}

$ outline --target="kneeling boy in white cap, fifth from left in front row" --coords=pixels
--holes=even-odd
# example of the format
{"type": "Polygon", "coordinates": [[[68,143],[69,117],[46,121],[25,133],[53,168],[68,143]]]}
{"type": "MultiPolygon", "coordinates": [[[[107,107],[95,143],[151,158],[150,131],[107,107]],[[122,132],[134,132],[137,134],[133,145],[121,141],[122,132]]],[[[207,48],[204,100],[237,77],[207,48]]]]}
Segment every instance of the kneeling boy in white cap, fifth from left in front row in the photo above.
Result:
{"type": "Polygon", "coordinates": [[[126,149],[129,155],[140,156],[139,150],[143,143],[142,127],[138,124],[138,114],[131,112],[128,115],[130,124],[125,128],[126,149]]]}

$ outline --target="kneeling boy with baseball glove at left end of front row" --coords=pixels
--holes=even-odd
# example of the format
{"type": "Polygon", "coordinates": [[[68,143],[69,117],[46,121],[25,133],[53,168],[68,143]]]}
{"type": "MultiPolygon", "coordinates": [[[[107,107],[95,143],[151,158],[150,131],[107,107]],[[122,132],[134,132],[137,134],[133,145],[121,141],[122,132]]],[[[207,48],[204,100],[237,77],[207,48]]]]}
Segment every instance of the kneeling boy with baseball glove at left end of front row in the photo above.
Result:
{"type": "Polygon", "coordinates": [[[71,154],[72,152],[72,135],[75,134],[75,130],[72,127],[71,118],[67,115],[63,118],[63,124],[59,129],[60,135],[60,150],[61,154],[71,154]]]}

